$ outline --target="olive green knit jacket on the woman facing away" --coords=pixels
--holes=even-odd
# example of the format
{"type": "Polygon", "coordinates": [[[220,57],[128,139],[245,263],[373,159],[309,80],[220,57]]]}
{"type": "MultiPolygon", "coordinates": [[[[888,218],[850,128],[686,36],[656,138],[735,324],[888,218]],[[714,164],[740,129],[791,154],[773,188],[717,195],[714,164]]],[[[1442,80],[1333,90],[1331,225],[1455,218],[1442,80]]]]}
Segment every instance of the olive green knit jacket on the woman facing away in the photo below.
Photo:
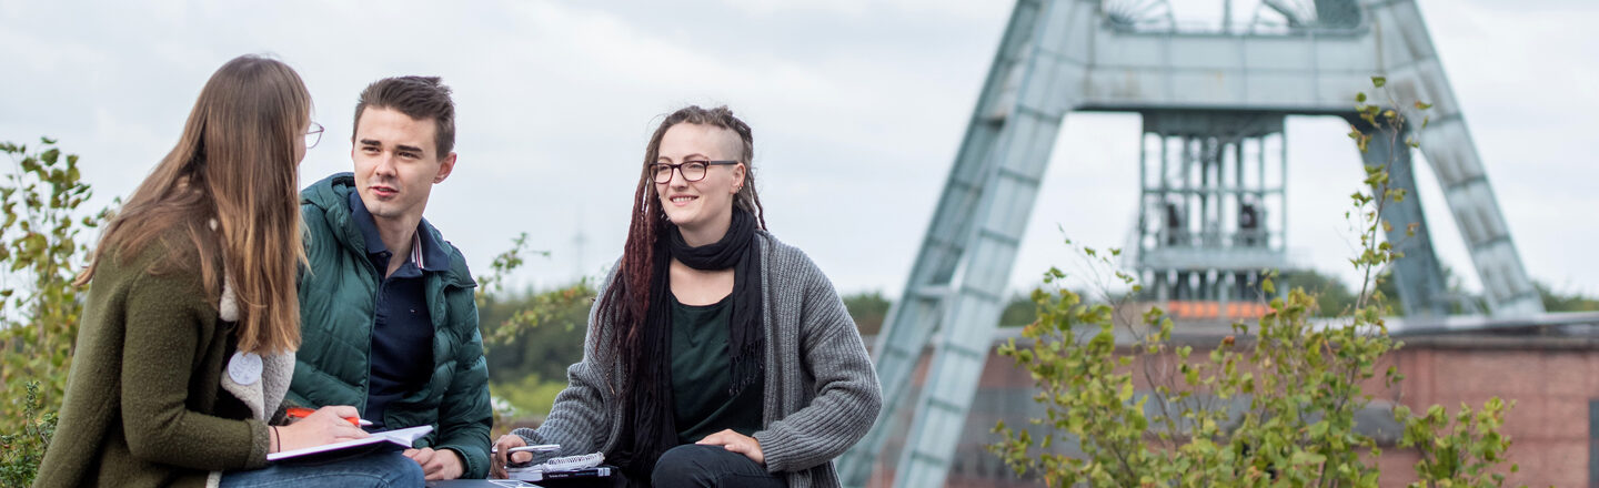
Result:
{"type": "Polygon", "coordinates": [[[150,273],[168,242],[193,254],[169,233],[94,271],[35,486],[203,486],[213,470],[265,466],[267,424],[221,388],[232,322],[197,270],[150,273]]]}

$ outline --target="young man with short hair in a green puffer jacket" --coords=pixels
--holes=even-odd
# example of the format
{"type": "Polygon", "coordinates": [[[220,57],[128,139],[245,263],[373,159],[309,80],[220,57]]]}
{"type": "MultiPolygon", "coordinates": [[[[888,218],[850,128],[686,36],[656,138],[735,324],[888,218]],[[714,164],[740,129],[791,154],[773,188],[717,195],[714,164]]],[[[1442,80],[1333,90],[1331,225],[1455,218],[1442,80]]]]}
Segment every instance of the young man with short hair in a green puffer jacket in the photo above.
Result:
{"type": "Polygon", "coordinates": [[[488,474],[488,365],[465,258],[422,218],[456,167],[438,78],[385,78],[355,105],[355,172],[301,191],[310,270],[289,400],[355,405],[373,429],[433,426],[405,455],[429,480],[488,474]]]}

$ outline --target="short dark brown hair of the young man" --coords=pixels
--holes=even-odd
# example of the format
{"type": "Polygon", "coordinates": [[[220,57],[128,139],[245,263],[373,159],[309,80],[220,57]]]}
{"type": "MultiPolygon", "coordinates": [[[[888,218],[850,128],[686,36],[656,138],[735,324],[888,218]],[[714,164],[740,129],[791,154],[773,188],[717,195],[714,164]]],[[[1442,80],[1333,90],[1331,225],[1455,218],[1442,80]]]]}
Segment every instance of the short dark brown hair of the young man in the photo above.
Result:
{"type": "Polygon", "coordinates": [[[456,102],[449,99],[449,86],[438,77],[393,77],[373,81],[361,91],[361,99],[355,102],[355,129],[350,131],[350,142],[355,142],[355,131],[361,129],[361,113],[366,107],[400,110],[414,120],[433,120],[433,144],[438,147],[438,158],[445,158],[456,148],[456,102]]]}

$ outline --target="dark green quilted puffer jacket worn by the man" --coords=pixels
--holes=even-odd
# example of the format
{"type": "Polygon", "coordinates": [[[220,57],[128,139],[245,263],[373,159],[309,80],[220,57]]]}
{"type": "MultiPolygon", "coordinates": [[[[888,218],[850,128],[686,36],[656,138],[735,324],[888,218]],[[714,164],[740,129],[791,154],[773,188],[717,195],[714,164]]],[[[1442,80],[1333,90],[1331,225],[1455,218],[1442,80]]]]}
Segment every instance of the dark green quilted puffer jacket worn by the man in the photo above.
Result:
{"type": "MultiPolygon", "coordinates": [[[[355,179],[334,174],[301,191],[305,218],[305,257],[301,273],[301,349],[288,402],[302,407],[355,405],[366,408],[371,375],[373,308],[377,271],[366,258],[366,239],[350,220],[349,196],[355,179]]],[[[438,230],[422,222],[435,242],[438,230]]],[[[461,455],[462,477],[489,472],[488,364],[478,333],[477,282],[454,246],[445,246],[449,270],[427,273],[427,308],[433,317],[433,375],[422,389],[389,403],[384,424],[390,429],[433,426],[416,447],[449,448],[461,455]]]]}

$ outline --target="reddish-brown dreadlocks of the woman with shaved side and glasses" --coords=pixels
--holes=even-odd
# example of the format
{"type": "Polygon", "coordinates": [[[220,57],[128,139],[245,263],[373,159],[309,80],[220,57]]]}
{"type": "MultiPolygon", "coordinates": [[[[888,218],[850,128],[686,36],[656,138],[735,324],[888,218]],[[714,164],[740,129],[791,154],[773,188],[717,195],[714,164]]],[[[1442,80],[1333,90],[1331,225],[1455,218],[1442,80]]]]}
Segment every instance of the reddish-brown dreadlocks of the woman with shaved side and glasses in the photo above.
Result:
{"type": "MultiPolygon", "coordinates": [[[[644,317],[649,311],[649,284],[654,279],[656,242],[665,231],[667,212],[660,207],[656,195],[656,180],[651,164],[660,156],[660,139],[667,129],[676,124],[713,126],[739,134],[740,152],[736,161],[744,163],[744,187],[732,198],[736,209],[755,214],[761,230],[766,228],[766,214],[761,198],[755,193],[755,136],[750,124],[732,115],[728,107],[700,108],[699,105],[683,107],[667,115],[649,136],[644,147],[644,163],[638,171],[638,190],[633,191],[633,212],[627,230],[627,244],[622,247],[622,262],[617,265],[616,279],[600,298],[600,316],[608,319],[616,330],[609,332],[611,346],[619,357],[638,357],[643,351],[644,317]]],[[[632,365],[630,365],[632,367],[632,365]]]]}

